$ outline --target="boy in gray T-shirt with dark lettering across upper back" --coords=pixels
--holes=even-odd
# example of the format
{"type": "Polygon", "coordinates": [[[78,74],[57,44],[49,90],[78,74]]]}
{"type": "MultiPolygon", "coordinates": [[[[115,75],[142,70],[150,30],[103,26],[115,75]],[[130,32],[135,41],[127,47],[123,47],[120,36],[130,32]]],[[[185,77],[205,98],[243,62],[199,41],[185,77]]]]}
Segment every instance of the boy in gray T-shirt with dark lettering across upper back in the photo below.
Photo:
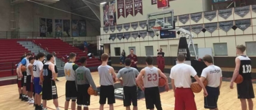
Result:
{"type": "Polygon", "coordinates": [[[124,95],[123,95],[123,103],[126,109],[130,109],[131,102],[134,106],[134,110],[137,110],[137,86],[136,86],[136,76],[138,76],[139,72],[136,68],[130,67],[131,60],[129,58],[125,59],[125,67],[120,69],[118,72],[118,76],[116,81],[121,81],[122,77],[124,86],[124,95]]]}

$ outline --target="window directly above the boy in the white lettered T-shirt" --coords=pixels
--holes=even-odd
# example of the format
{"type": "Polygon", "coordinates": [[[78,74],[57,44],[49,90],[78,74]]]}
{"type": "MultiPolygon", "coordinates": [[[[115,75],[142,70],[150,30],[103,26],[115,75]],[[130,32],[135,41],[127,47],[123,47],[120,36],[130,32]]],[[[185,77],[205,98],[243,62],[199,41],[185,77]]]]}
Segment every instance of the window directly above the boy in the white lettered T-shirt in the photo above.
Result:
{"type": "Polygon", "coordinates": [[[227,43],[214,43],[213,50],[214,56],[228,56],[227,43]]]}

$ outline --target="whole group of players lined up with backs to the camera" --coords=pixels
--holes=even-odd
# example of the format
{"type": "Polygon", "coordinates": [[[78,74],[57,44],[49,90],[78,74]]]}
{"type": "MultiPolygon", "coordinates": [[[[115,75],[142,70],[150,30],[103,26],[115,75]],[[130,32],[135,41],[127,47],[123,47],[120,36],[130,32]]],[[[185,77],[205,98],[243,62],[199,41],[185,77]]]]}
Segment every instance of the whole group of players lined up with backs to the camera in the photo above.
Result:
{"type": "MultiPolygon", "coordinates": [[[[237,58],[235,59],[236,67],[232,80],[230,83],[230,89],[233,89],[233,82],[237,75],[240,74],[243,76],[244,80],[242,83],[237,84],[237,94],[238,98],[241,101],[241,109],[246,110],[246,100],[248,101],[248,109],[253,110],[253,100],[255,98],[253,85],[251,81],[251,61],[248,56],[244,55],[246,47],[244,45],[237,45],[237,58]]],[[[43,56],[40,54],[37,55],[38,61],[41,61],[43,56]]],[[[95,86],[91,72],[86,68],[86,58],[80,58],[81,66],[79,67],[74,63],[76,54],[69,54],[69,61],[64,66],[65,76],[66,76],[66,102],[64,109],[68,109],[69,101],[71,100],[71,109],[75,110],[75,102],[77,102],[77,109],[87,110],[90,105],[90,95],[87,92],[87,89],[92,86],[95,90],[95,93],[98,93],[98,89],[95,86]]],[[[33,64],[33,58],[30,57],[30,54],[27,54],[29,65],[28,70],[31,69],[33,64]]],[[[39,100],[40,93],[37,89],[37,80],[38,84],[44,85],[42,89],[43,93],[43,107],[46,109],[46,100],[54,99],[54,104],[57,110],[59,110],[57,103],[57,88],[55,86],[55,69],[53,65],[54,56],[51,54],[47,55],[47,61],[43,67],[38,68],[42,70],[37,72],[37,68],[34,71],[34,66],[37,66],[37,63],[34,63],[33,70],[34,73],[34,85],[35,85],[35,99],[39,100]],[[42,74],[44,80],[40,79],[39,76],[42,74]],[[49,80],[49,81],[46,81],[49,80]],[[50,85],[50,86],[47,86],[50,85]],[[46,93],[46,95],[44,95],[46,93]]],[[[117,76],[113,67],[107,65],[109,55],[102,54],[102,65],[98,67],[98,74],[100,76],[100,110],[104,109],[104,104],[109,104],[109,109],[113,110],[113,104],[116,102],[114,94],[114,83],[120,81],[123,86],[123,105],[127,110],[130,109],[131,102],[133,104],[133,109],[138,109],[137,105],[137,87],[140,87],[141,90],[145,92],[145,103],[146,108],[153,110],[154,107],[158,110],[162,110],[161,107],[161,97],[158,89],[158,78],[162,77],[165,79],[165,91],[169,91],[169,85],[167,76],[161,72],[160,69],[152,65],[153,58],[152,56],[147,56],[145,62],[147,67],[138,72],[138,69],[131,67],[135,63],[131,58],[125,59],[125,67],[120,69],[117,76]],[[122,79],[120,79],[122,78],[122,79]],[[115,80],[113,80],[115,79],[115,80]],[[141,83],[140,80],[143,80],[141,83]]],[[[206,67],[203,69],[201,77],[196,75],[196,71],[190,65],[184,64],[185,56],[183,54],[178,54],[177,56],[178,64],[172,67],[170,72],[170,78],[172,83],[172,88],[174,91],[175,97],[175,110],[196,110],[196,102],[194,101],[194,94],[190,89],[192,84],[190,76],[193,76],[196,79],[196,82],[203,88],[204,98],[204,107],[205,109],[218,110],[217,100],[219,98],[221,83],[222,83],[222,71],[220,67],[213,65],[213,59],[210,55],[205,55],[203,57],[203,62],[206,67]],[[208,85],[205,87],[203,81],[208,80],[208,85]]],[[[24,65],[24,61],[21,61],[21,64],[24,65]]],[[[20,66],[19,66],[20,67],[20,66]]],[[[18,68],[19,68],[18,67],[18,68]]],[[[20,69],[19,69],[20,71],[20,69]]],[[[17,72],[21,73],[21,72],[17,72]]],[[[24,83],[28,82],[31,72],[27,76],[22,77],[26,78],[24,83]]],[[[21,78],[22,74],[18,74],[21,78]]],[[[29,86],[29,85],[28,85],[29,86]]],[[[32,91],[27,87],[26,91],[32,91]]],[[[25,95],[25,94],[24,94],[25,95]]],[[[97,94],[95,94],[97,95],[97,94]]],[[[26,97],[26,96],[24,96],[26,97]]],[[[28,99],[32,99],[30,92],[28,92],[28,99]]],[[[41,104],[41,100],[35,101],[37,107],[41,104]],[[40,102],[39,102],[40,101],[40,102]]],[[[36,108],[38,109],[38,108],[36,108]]]]}

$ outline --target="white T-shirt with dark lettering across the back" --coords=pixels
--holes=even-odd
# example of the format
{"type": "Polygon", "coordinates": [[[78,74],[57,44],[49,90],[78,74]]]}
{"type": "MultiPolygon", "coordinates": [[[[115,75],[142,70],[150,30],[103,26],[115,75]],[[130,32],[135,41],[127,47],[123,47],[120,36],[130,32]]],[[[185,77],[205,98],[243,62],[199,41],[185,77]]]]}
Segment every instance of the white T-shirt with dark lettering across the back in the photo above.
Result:
{"type": "Polygon", "coordinates": [[[222,77],[221,68],[215,65],[209,65],[203,69],[201,77],[208,80],[208,87],[219,87],[220,78],[222,77]]]}

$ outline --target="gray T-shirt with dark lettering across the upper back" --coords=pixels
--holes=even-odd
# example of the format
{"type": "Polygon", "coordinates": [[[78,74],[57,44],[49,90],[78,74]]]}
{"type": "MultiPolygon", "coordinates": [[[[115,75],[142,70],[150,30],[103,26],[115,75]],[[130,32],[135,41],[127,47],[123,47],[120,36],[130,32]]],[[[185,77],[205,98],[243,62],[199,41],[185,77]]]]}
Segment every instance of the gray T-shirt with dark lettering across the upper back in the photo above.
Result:
{"type": "Polygon", "coordinates": [[[133,87],[136,85],[136,76],[138,76],[138,74],[138,70],[134,67],[124,67],[119,70],[117,77],[122,77],[123,86],[133,87]]]}

